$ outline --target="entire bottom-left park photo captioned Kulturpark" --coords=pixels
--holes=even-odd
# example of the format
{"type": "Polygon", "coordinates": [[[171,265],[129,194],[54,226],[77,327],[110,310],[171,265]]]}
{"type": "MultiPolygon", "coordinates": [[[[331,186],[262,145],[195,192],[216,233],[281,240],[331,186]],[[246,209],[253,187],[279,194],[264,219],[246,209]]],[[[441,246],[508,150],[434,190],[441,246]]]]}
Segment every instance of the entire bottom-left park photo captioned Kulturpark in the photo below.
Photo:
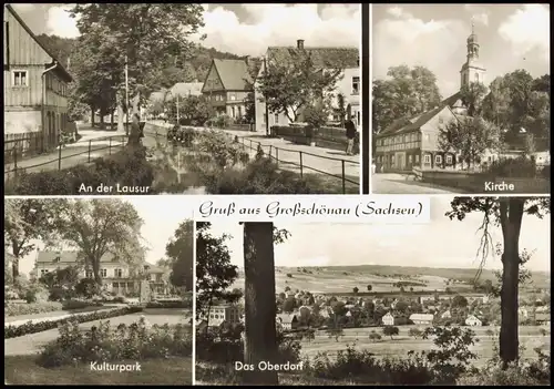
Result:
{"type": "Polygon", "coordinates": [[[193,383],[194,224],[172,198],[6,199],[6,385],[193,383]]]}

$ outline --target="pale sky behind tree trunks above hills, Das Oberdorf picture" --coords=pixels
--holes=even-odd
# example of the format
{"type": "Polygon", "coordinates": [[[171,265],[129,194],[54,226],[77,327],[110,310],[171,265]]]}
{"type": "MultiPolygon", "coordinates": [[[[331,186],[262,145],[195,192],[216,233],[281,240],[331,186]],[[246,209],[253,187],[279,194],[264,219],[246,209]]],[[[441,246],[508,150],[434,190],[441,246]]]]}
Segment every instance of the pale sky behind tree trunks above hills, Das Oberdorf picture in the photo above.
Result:
{"type": "MultiPolygon", "coordinates": [[[[297,266],[356,266],[390,265],[437,268],[476,268],[476,249],[481,235],[476,232],[482,214],[468,215],[463,222],[450,221],[444,213],[450,209],[451,198],[432,197],[431,223],[418,225],[370,224],[290,224],[276,223],[290,237],[275,246],[275,265],[297,266]]],[[[243,266],[243,227],[238,223],[214,223],[212,234],[229,234],[227,246],[232,263],[243,266]]],[[[495,228],[493,240],[502,242],[502,233],[495,228]]],[[[520,238],[521,249],[534,252],[526,267],[535,272],[548,272],[550,217],[523,218],[520,238]]],[[[491,257],[485,268],[501,268],[501,260],[491,257]]]]}

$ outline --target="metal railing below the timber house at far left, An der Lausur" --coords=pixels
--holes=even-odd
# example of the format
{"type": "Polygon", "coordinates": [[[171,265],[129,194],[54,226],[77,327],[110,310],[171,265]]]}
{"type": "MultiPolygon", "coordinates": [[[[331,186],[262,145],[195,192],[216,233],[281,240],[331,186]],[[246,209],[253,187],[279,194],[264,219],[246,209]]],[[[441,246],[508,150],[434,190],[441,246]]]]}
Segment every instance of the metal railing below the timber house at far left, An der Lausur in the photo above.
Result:
{"type": "MultiPolygon", "coordinates": [[[[84,161],[84,163],[91,163],[93,158],[92,153],[107,150],[106,155],[111,155],[113,150],[116,149],[121,150],[125,146],[126,137],[127,137],[126,135],[112,135],[112,136],[98,137],[94,140],[90,140],[88,142],[78,142],[82,143],[82,146],[80,145],[76,147],[80,149],[86,147],[86,150],[69,154],[68,151],[71,151],[72,147],[75,147],[74,143],[71,144],[72,146],[64,146],[64,145],[58,146],[55,151],[52,151],[51,153],[48,154],[33,154],[32,152],[29,151],[29,149],[22,147],[24,143],[21,142],[29,142],[30,141],[29,137],[8,141],[13,145],[11,147],[7,147],[4,145],[4,181],[17,178],[19,174],[29,172],[29,170],[35,170],[38,167],[42,167],[40,171],[52,171],[52,170],[61,171],[62,161],[79,155],[86,155],[86,160],[84,161]],[[106,141],[107,144],[95,144],[99,142],[106,142],[106,141]],[[29,157],[31,155],[32,157],[29,157]],[[48,160],[33,163],[33,160],[43,160],[43,158],[48,160]]],[[[79,161],[79,163],[74,163],[71,166],[75,166],[82,163],[83,161],[79,161]]],[[[70,167],[70,166],[64,166],[64,167],[70,167]]]]}

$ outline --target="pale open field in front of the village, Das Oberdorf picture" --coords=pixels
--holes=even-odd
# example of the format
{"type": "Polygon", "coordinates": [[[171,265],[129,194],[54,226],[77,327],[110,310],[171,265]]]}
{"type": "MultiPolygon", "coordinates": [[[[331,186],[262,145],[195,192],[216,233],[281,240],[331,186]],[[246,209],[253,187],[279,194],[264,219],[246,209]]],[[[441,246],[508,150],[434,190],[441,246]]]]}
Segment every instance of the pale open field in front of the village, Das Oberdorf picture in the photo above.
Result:
{"type": "MultiPolygon", "coordinates": [[[[335,338],[330,339],[325,332],[319,332],[316,335],[316,339],[311,341],[301,341],[301,354],[308,357],[315,357],[318,352],[327,352],[329,357],[337,355],[338,350],[343,350],[347,345],[355,345],[358,350],[368,350],[375,354],[376,357],[401,357],[406,358],[407,352],[410,350],[423,351],[429,350],[433,347],[431,340],[425,339],[414,339],[408,336],[410,328],[418,326],[400,326],[400,334],[390,337],[382,336],[382,328],[347,328],[345,329],[345,335],[337,341],[335,338]],[[369,339],[370,331],[376,330],[382,336],[381,340],[372,341],[369,339]]],[[[419,326],[421,327],[421,326],[419,326]]],[[[525,347],[524,357],[535,358],[536,354],[534,348],[540,347],[543,350],[550,350],[551,336],[550,330],[547,336],[542,336],[540,334],[541,327],[520,327],[520,344],[525,347]]],[[[488,329],[492,329],[494,332],[499,331],[497,327],[472,327],[476,332],[476,338],[479,342],[471,347],[471,350],[479,356],[479,359],[474,360],[475,366],[482,366],[486,360],[493,357],[494,345],[497,345],[496,336],[488,336],[485,332],[488,329]]]]}

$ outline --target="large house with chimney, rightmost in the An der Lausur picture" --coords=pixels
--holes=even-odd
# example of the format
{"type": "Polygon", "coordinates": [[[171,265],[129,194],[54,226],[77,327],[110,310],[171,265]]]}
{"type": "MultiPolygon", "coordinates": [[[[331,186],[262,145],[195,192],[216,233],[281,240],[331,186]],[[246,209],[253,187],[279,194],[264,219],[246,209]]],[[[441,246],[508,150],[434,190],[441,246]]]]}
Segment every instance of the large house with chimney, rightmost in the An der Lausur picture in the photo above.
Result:
{"type": "MultiPolygon", "coordinates": [[[[357,126],[361,124],[360,114],[360,51],[358,48],[310,48],[305,47],[304,40],[299,39],[296,47],[269,47],[264,57],[261,68],[258,72],[260,78],[266,66],[271,63],[287,63],[294,61],[299,53],[307,53],[311,57],[316,68],[321,70],[342,69],[342,74],[335,85],[332,92],[334,106],[338,108],[338,95],[342,95],[345,109],[352,117],[357,126]]],[[[256,131],[269,132],[274,125],[289,125],[290,120],[284,112],[269,112],[266,110],[266,102],[259,83],[254,85],[255,114],[256,114],[256,131]]],[[[301,116],[301,115],[300,115],[301,116]]],[[[330,121],[339,121],[332,115],[330,121]]]]}

